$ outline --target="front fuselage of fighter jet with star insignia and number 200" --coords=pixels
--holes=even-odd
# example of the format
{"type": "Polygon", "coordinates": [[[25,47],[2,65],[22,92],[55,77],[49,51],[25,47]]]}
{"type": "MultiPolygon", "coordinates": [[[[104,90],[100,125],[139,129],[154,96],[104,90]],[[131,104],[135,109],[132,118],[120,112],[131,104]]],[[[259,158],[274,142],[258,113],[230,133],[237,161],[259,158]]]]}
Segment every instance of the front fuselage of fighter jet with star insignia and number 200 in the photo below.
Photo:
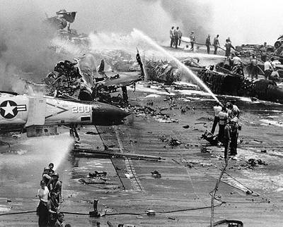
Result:
{"type": "Polygon", "coordinates": [[[0,133],[22,132],[28,137],[57,135],[57,127],[118,125],[128,112],[100,102],[79,102],[54,97],[30,97],[0,92],[0,133]]]}

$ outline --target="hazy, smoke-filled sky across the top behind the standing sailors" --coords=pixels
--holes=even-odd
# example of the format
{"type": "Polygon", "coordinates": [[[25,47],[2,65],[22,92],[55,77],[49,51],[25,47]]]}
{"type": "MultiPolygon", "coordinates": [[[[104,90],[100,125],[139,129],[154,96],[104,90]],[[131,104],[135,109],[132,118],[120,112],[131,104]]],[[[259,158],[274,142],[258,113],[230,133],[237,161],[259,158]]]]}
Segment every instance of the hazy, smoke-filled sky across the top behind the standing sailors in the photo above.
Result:
{"type": "MultiPolygon", "coordinates": [[[[282,6],[279,0],[0,0],[0,19],[12,20],[23,14],[44,20],[61,8],[77,11],[72,25],[79,32],[129,33],[134,27],[151,37],[168,39],[171,25],[179,25],[185,36],[191,30],[197,41],[207,33],[219,34],[224,44],[267,42],[274,44],[283,32],[282,6]]],[[[1,21],[0,21],[1,26],[1,21]]]]}

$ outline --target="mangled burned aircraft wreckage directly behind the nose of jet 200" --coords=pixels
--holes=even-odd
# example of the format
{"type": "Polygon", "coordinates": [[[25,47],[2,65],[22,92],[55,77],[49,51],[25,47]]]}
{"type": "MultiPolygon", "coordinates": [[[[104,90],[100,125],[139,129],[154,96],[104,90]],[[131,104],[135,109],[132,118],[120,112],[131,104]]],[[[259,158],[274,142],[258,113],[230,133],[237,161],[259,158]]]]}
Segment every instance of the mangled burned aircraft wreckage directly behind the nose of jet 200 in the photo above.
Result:
{"type": "Polygon", "coordinates": [[[144,68],[137,53],[137,66],[132,73],[105,73],[105,61],[102,60],[96,69],[94,54],[84,54],[76,62],[60,61],[54,70],[47,75],[44,82],[48,87],[47,93],[55,97],[74,98],[82,101],[98,100],[100,102],[115,104],[110,94],[122,89],[119,102],[127,104],[127,86],[135,85],[144,79],[144,68]]]}

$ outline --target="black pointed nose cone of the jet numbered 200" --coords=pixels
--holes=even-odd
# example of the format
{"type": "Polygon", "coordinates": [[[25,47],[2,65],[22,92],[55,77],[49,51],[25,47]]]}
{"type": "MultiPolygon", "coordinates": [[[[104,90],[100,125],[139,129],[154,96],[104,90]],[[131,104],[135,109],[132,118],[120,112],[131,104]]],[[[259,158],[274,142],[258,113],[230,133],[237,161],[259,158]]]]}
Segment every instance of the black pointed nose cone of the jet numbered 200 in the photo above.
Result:
{"type": "Polygon", "coordinates": [[[93,124],[94,125],[118,125],[122,119],[130,113],[117,106],[97,103],[93,104],[93,124]]]}

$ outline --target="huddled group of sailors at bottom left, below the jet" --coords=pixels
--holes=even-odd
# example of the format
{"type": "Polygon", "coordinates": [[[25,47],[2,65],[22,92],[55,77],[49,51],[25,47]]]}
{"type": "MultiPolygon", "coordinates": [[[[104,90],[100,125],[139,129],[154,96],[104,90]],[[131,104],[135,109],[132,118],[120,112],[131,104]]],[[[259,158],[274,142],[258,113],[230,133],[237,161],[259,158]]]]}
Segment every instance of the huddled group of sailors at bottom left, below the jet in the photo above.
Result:
{"type": "Polygon", "coordinates": [[[62,202],[62,181],[59,180],[59,174],[54,171],[52,163],[43,168],[37,196],[40,200],[37,206],[38,226],[64,226],[64,214],[59,212],[59,203],[62,202]]]}

